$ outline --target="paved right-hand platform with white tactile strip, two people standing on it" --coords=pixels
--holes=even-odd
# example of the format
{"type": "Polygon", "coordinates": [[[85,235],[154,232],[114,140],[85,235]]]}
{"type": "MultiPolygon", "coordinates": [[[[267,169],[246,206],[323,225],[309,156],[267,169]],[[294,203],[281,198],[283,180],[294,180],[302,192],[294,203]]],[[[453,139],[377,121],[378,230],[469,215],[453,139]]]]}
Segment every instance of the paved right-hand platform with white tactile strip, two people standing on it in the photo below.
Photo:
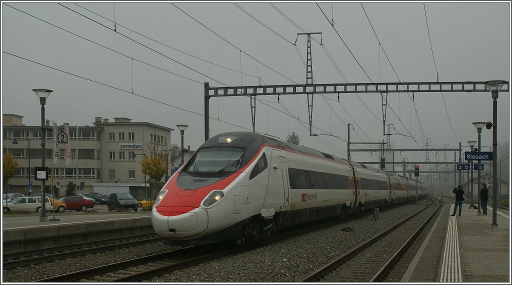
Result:
{"type": "Polygon", "coordinates": [[[463,204],[462,214],[450,216],[454,204],[445,203],[402,282],[510,283],[510,220],[493,209],[477,215],[463,204]]]}

